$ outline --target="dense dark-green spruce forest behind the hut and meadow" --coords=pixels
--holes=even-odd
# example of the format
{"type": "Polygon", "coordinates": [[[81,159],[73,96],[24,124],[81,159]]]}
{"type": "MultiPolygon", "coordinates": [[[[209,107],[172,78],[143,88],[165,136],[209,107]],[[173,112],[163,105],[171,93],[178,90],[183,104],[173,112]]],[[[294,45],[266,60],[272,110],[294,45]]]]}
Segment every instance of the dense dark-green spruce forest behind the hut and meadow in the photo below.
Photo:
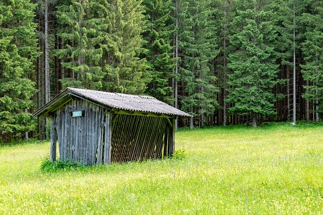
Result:
{"type": "Polygon", "coordinates": [[[2,0],[0,141],[48,137],[31,114],[67,87],[150,95],[176,126],[319,121],[323,2],[2,0]]]}

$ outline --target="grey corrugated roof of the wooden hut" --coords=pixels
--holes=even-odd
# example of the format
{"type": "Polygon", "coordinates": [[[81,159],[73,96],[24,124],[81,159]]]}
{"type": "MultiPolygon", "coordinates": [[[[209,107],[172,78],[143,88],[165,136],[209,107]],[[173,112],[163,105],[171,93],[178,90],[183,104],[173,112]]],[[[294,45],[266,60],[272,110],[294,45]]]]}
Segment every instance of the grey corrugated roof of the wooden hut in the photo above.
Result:
{"type": "MultiPolygon", "coordinates": [[[[182,117],[192,117],[190,114],[187,114],[184,111],[174,108],[150,96],[110,93],[110,92],[103,92],[103,91],[78,89],[78,88],[67,88],[66,91],[67,91],[66,92],[67,94],[76,94],[81,96],[82,98],[88,99],[89,101],[97,102],[99,104],[102,104],[104,106],[111,107],[114,109],[174,115],[174,116],[182,116],[182,117]]],[[[58,97],[59,98],[56,98],[55,103],[58,100],[60,100],[60,96],[58,97]]],[[[53,102],[47,103],[47,106],[44,105],[43,109],[49,108],[52,104],[53,102]]],[[[41,115],[41,112],[43,111],[40,109],[37,110],[34,115],[41,115]]]]}

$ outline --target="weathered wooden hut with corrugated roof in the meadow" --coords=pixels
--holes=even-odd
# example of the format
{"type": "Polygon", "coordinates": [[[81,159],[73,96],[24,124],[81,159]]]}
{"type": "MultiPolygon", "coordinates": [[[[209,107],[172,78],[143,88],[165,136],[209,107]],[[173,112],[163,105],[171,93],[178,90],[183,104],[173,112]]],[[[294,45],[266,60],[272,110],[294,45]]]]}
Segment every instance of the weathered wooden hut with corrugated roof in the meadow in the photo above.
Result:
{"type": "Polygon", "coordinates": [[[191,117],[149,96],[67,88],[33,116],[50,117],[50,160],[84,165],[171,156],[175,118],[191,117]]]}

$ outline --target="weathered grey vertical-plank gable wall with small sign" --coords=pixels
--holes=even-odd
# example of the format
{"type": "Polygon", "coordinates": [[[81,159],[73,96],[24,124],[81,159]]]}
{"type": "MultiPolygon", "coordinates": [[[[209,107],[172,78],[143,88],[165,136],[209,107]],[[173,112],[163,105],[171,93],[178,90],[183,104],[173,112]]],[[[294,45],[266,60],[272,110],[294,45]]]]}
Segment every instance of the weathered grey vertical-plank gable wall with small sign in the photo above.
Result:
{"type": "Polygon", "coordinates": [[[106,115],[109,113],[105,113],[102,107],[85,100],[72,100],[60,107],[51,119],[52,132],[57,132],[60,159],[89,165],[101,163],[104,157],[102,131],[106,130],[106,115]],[[72,110],[85,110],[85,115],[71,117],[72,110]],[[97,157],[100,161],[97,161],[97,157]]]}

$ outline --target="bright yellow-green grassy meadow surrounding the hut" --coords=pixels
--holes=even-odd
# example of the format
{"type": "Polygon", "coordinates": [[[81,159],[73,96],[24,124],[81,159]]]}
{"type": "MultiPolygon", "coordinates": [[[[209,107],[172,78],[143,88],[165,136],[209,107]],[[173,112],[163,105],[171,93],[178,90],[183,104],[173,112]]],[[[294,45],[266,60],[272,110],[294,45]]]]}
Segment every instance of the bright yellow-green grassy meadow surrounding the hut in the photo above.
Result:
{"type": "Polygon", "coordinates": [[[181,129],[176,149],[185,159],[44,172],[48,142],[2,146],[0,214],[323,212],[322,125],[181,129]]]}

